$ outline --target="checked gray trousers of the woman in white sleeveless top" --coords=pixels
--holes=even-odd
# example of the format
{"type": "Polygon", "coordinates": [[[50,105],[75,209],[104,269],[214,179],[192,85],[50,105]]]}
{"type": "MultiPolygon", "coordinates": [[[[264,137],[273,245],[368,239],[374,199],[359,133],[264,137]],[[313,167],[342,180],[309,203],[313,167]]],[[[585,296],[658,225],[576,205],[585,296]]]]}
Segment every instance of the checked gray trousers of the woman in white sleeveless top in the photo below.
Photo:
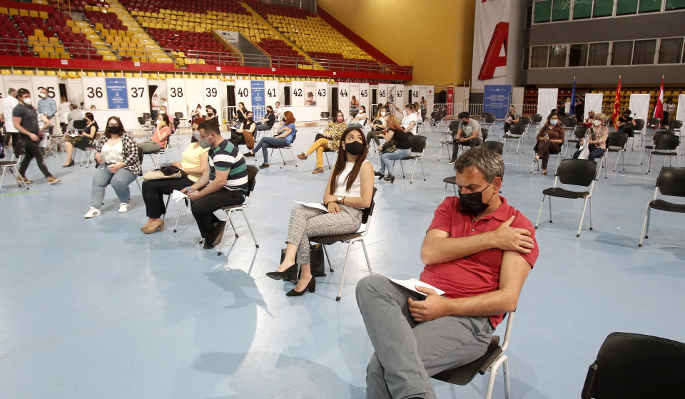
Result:
{"type": "Polygon", "coordinates": [[[298,246],[295,259],[300,265],[310,264],[309,237],[355,233],[361,225],[361,209],[340,204],[340,213],[332,214],[298,204],[290,211],[285,242],[298,246]]]}

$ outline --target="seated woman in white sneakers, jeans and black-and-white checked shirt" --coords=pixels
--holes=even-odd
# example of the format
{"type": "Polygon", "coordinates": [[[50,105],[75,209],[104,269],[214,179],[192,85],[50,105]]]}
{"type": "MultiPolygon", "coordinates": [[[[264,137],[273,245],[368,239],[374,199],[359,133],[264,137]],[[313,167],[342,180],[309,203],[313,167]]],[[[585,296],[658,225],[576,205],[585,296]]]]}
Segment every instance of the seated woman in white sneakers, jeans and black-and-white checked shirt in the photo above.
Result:
{"type": "Polygon", "coordinates": [[[95,160],[98,161],[93,174],[91,189],[91,209],[83,216],[86,219],[100,216],[100,207],[105,197],[107,185],[112,185],[119,197],[119,213],[131,210],[131,190],[128,190],[136,176],[141,174],[141,160],[138,146],[131,135],[123,130],[121,120],[111,116],[102,138],[96,144],[95,160]]]}

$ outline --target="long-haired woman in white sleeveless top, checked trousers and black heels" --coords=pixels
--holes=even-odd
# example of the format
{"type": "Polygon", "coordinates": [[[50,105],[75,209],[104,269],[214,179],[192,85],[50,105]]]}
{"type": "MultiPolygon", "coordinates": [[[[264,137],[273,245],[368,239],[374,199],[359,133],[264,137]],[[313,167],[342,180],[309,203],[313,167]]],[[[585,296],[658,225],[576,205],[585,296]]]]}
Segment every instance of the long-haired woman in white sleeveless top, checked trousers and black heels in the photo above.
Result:
{"type": "Polygon", "coordinates": [[[277,271],[266,274],[275,280],[290,280],[298,273],[295,261],[300,264],[300,280],[287,296],[300,296],[316,289],[310,267],[309,237],[357,232],[362,224],[362,209],[371,205],[373,167],[366,160],[364,133],[360,128],[347,128],[338,145],[338,159],[323,194],[328,212],[295,205],[290,212],[283,262],[277,271]]]}

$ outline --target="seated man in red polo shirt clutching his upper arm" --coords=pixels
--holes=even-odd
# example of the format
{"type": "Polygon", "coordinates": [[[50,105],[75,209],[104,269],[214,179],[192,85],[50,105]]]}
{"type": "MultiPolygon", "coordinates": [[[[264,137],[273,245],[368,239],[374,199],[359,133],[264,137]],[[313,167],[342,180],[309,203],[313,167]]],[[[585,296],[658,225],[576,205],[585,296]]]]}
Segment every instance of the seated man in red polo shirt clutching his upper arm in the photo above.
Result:
{"type": "Polygon", "coordinates": [[[421,281],[445,294],[416,294],[378,274],[357,284],[375,348],[367,398],[435,398],[430,377],[485,353],[537,259],[532,224],[499,196],[502,157],[472,148],[455,170],[460,196],[437,207],[421,248],[421,281]]]}

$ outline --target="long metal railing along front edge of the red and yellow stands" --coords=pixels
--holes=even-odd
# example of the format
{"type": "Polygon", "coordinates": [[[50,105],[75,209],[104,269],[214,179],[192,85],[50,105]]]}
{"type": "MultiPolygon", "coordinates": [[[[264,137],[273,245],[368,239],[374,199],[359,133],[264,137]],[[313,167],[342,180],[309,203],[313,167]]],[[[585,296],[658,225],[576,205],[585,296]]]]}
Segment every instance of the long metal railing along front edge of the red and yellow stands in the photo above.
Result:
{"type": "Polygon", "coordinates": [[[412,73],[411,66],[396,66],[390,64],[380,64],[372,61],[351,61],[351,60],[334,60],[326,58],[313,58],[315,65],[312,65],[304,57],[283,57],[270,56],[270,62],[267,64],[263,58],[243,55],[238,53],[218,53],[215,51],[200,51],[188,50],[179,56],[177,53],[181,51],[163,48],[161,51],[156,48],[141,48],[141,47],[123,47],[118,45],[111,45],[107,48],[97,47],[93,44],[84,43],[70,43],[70,42],[52,42],[52,41],[34,41],[29,43],[24,39],[14,38],[0,38],[0,45],[6,48],[6,51],[11,55],[16,56],[34,56],[34,49],[32,46],[46,46],[44,51],[37,51],[37,53],[47,53],[50,58],[60,58],[61,51],[57,51],[54,46],[62,46],[71,54],[73,58],[83,58],[86,60],[100,60],[103,56],[97,51],[108,51],[118,60],[136,60],[143,62],[157,62],[157,58],[171,58],[171,61],[176,64],[192,64],[205,63],[216,66],[243,66],[245,61],[251,61],[251,65],[258,63],[258,66],[263,68],[300,68],[300,69],[329,69],[335,71],[359,72],[359,73],[383,73],[383,74],[403,74],[409,75],[412,73]],[[182,61],[181,61],[182,60],[182,61]],[[201,61],[203,60],[203,61],[201,61]],[[303,68],[304,67],[304,68],[303,68]]]}

